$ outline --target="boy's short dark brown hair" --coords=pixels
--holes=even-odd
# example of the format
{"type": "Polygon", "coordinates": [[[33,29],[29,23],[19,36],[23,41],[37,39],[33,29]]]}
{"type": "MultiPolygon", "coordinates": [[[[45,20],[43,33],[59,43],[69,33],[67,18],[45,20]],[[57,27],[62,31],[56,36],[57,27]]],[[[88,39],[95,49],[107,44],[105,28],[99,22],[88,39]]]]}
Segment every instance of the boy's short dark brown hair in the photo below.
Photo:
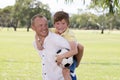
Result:
{"type": "Polygon", "coordinates": [[[67,24],[69,25],[69,14],[64,11],[58,11],[54,14],[54,24],[55,22],[65,20],[67,24]]]}

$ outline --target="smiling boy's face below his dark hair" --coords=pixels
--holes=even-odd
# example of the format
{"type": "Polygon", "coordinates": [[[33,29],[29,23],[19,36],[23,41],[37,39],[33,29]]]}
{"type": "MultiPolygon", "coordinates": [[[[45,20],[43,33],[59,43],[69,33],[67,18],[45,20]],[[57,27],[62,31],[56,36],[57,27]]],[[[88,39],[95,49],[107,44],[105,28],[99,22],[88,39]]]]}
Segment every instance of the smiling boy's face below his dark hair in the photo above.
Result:
{"type": "Polygon", "coordinates": [[[68,24],[65,19],[62,19],[61,21],[55,22],[54,27],[56,28],[56,33],[62,34],[68,28],[68,24]]]}

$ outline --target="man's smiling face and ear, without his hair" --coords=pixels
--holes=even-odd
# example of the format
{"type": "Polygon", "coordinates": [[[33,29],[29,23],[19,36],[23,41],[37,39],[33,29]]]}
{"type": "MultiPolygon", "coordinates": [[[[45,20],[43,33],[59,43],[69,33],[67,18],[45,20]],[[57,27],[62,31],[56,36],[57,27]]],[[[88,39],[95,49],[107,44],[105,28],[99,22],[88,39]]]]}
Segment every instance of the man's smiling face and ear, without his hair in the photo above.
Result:
{"type": "Polygon", "coordinates": [[[34,20],[34,31],[40,37],[46,37],[48,35],[48,23],[45,18],[37,17],[34,20]]]}

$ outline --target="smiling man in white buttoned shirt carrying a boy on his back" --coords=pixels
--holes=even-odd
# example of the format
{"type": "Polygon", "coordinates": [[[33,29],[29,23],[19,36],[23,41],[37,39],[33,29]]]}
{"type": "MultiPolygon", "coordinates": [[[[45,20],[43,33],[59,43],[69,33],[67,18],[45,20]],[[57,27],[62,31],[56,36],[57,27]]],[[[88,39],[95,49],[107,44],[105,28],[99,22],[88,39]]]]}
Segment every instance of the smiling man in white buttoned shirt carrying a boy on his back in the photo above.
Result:
{"type": "MultiPolygon", "coordinates": [[[[62,48],[70,49],[69,43],[63,37],[48,30],[47,19],[42,15],[33,16],[31,26],[37,35],[34,46],[42,58],[43,80],[64,80],[62,68],[55,62],[56,52],[62,48]],[[37,44],[40,45],[39,49],[37,44]]],[[[67,55],[62,55],[62,58],[68,57],[67,55]]],[[[67,80],[70,79],[68,78],[67,80]]]]}

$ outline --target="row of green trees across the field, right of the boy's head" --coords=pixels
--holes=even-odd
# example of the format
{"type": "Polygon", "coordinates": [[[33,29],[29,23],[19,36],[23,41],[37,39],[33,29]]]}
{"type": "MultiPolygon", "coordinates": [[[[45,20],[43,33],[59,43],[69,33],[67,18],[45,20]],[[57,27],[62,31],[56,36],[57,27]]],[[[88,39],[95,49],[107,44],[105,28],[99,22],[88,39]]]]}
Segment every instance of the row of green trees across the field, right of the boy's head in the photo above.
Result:
{"type": "Polygon", "coordinates": [[[120,29],[120,15],[76,14],[70,17],[70,27],[77,29],[120,29]]]}

